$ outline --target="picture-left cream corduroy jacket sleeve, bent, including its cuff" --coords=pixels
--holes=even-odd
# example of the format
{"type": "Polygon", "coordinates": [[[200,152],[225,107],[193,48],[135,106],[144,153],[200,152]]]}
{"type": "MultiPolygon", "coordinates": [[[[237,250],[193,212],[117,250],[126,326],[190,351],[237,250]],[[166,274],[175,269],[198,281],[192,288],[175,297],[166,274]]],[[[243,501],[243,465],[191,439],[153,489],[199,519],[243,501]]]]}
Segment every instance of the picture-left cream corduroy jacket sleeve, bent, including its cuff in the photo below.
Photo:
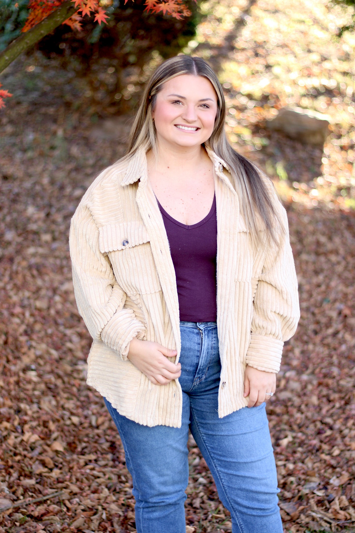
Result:
{"type": "Polygon", "coordinates": [[[126,293],[109,257],[100,252],[98,228],[85,205],[79,205],[71,219],[69,248],[75,298],[90,335],[127,360],[130,341],[143,338],[146,328],[132,309],[125,308],[126,293]]]}

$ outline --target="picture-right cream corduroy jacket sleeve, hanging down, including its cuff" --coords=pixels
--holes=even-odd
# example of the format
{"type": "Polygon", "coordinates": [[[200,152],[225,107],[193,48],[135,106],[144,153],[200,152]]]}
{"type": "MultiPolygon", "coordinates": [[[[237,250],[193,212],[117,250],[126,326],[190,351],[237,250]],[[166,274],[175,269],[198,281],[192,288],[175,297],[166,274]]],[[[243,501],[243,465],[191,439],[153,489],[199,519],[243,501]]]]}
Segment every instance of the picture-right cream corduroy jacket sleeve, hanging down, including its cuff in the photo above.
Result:
{"type": "Polygon", "coordinates": [[[300,318],[298,283],[293,261],[288,222],[282,207],[284,233],[279,246],[267,247],[253,302],[251,341],[246,364],[277,373],[285,341],[295,333],[300,318]]]}

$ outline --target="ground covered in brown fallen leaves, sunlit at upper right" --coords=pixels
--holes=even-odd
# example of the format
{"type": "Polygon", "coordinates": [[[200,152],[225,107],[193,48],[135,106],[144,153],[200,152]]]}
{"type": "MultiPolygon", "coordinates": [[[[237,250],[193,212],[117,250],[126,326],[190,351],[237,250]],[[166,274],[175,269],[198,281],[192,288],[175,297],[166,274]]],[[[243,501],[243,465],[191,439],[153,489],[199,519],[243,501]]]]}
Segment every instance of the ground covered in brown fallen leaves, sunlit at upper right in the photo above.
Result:
{"type": "MultiPolygon", "coordinates": [[[[225,84],[237,149],[275,178],[300,285],[300,325],[268,406],[284,529],[355,531],[354,54],[351,34],[334,35],[349,14],[302,0],[207,7],[189,50],[208,56],[225,84]],[[265,118],[287,99],[334,115],[324,148],[267,130],[265,118]]],[[[156,61],[158,52],[150,68],[156,61]]],[[[0,532],[135,531],[117,430],[85,382],[90,338],[68,250],[70,217],[93,177],[123,154],[130,119],[93,122],[85,84],[55,65],[37,54],[2,78],[17,92],[0,112],[0,507],[13,504],[0,532]]],[[[126,80],[137,94],[138,74],[126,80]]],[[[187,533],[231,531],[193,440],[189,449],[187,533]]]]}

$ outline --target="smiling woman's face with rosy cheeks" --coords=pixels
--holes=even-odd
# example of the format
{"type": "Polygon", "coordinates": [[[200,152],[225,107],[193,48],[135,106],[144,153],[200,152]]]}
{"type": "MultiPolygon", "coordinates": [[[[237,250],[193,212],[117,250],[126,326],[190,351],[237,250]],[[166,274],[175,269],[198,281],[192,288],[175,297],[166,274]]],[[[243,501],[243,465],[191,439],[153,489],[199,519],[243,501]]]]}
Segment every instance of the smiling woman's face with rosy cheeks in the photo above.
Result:
{"type": "Polygon", "coordinates": [[[217,95],[207,78],[181,74],[156,95],[153,118],[159,142],[194,147],[207,141],[217,115],[217,95]]]}

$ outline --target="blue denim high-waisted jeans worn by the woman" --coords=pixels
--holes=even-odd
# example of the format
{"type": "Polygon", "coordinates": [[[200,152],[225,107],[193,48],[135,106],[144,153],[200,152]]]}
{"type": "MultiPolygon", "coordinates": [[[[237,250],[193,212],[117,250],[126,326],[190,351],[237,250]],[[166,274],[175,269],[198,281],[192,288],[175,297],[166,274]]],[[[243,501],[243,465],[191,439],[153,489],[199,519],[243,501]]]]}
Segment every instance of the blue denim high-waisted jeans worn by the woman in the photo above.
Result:
{"type": "Polygon", "coordinates": [[[133,478],[137,533],[186,533],[188,429],[209,466],[233,533],[283,533],[265,403],[218,418],[216,322],[180,322],[181,427],[143,426],[104,398],[133,478]]]}

